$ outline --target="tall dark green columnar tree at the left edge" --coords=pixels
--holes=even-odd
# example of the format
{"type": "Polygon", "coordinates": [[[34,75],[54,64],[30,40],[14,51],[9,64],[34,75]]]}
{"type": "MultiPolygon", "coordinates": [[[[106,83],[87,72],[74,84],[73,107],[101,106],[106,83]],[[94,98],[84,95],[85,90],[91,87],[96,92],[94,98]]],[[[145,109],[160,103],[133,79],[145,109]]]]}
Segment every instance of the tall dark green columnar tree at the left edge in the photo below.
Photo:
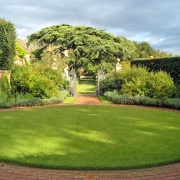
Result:
{"type": "Polygon", "coordinates": [[[0,18],[0,69],[10,70],[15,57],[15,27],[10,21],[0,18]]]}

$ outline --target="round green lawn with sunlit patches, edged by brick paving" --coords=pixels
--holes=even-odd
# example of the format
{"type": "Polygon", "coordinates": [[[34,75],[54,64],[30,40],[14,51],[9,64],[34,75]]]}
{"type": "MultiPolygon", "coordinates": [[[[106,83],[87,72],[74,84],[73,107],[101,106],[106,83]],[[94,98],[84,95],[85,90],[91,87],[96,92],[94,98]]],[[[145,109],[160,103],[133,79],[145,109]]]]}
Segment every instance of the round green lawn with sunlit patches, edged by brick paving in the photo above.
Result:
{"type": "Polygon", "coordinates": [[[60,169],[128,169],[180,161],[180,114],[120,106],[0,113],[0,161],[60,169]]]}

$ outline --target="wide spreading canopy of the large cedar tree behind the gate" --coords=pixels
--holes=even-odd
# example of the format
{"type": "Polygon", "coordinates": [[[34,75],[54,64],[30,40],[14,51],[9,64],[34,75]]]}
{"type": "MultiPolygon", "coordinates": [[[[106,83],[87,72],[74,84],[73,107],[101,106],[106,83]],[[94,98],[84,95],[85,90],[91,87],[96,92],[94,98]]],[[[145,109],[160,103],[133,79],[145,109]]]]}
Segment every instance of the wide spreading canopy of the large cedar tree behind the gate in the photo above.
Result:
{"type": "Polygon", "coordinates": [[[33,33],[28,36],[28,44],[33,42],[41,47],[42,51],[38,51],[40,53],[49,45],[56,46],[54,51],[61,53],[62,57],[63,51],[68,50],[69,66],[76,70],[83,68],[87,72],[94,72],[99,66],[112,70],[117,58],[125,61],[143,57],[143,51],[145,56],[153,53],[148,43],[138,44],[104,30],[67,24],[43,28],[33,33]]]}

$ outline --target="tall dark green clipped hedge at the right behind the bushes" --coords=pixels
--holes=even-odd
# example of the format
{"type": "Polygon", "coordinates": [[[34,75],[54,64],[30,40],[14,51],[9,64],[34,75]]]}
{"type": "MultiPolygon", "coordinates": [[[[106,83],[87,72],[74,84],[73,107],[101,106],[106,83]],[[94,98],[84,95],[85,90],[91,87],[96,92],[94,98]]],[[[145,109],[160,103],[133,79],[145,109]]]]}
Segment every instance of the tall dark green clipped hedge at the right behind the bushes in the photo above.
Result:
{"type": "Polygon", "coordinates": [[[145,66],[149,71],[166,71],[180,85],[180,56],[152,60],[132,60],[131,66],[145,66]]]}

